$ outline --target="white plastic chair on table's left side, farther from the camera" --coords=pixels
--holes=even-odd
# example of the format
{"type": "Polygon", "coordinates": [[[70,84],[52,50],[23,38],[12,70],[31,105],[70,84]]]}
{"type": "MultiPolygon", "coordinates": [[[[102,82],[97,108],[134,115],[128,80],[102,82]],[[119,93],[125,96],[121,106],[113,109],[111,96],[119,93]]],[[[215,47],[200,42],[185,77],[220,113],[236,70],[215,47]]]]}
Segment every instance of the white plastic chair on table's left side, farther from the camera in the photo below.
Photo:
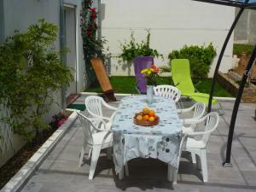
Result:
{"type": "Polygon", "coordinates": [[[85,107],[88,113],[90,113],[90,115],[92,115],[95,118],[103,119],[107,123],[108,130],[110,130],[113,122],[113,117],[115,115],[115,111],[117,110],[117,108],[108,105],[108,103],[105,102],[100,96],[87,96],[85,98],[85,107]],[[110,118],[103,116],[102,106],[110,110],[113,110],[113,113],[110,118]]]}

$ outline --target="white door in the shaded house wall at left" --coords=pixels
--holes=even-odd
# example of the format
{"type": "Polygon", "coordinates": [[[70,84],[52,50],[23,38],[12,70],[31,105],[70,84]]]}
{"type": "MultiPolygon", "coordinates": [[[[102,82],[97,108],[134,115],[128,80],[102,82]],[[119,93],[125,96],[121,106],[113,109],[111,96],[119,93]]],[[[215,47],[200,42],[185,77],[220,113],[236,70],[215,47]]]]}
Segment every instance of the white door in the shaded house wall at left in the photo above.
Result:
{"type": "Polygon", "coordinates": [[[76,50],[76,8],[65,6],[65,32],[67,49],[67,67],[73,68],[73,83],[67,87],[66,96],[77,93],[77,50],[76,50]]]}

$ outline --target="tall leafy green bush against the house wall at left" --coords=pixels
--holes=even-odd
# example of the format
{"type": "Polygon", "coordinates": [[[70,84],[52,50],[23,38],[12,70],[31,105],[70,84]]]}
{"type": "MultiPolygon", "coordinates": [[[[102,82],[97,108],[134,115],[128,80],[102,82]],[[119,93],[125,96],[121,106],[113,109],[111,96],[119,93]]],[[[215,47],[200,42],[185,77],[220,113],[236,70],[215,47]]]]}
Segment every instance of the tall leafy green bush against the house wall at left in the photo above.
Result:
{"type": "Polygon", "coordinates": [[[49,128],[42,116],[54,103],[54,93],[73,81],[55,52],[56,38],[57,26],[39,20],[0,45],[0,102],[7,101],[11,111],[4,120],[30,141],[41,140],[42,130],[49,128]]]}

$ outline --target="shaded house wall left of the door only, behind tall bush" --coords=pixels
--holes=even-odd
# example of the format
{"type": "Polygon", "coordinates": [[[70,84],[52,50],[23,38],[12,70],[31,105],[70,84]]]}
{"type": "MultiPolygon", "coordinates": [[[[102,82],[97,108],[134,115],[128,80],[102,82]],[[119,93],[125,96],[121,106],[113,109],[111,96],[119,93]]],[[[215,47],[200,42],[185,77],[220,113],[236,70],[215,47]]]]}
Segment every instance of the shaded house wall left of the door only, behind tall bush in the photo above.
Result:
{"type": "MultiPolygon", "coordinates": [[[[59,0],[3,0],[3,39],[14,35],[15,30],[26,32],[28,26],[38,23],[38,20],[42,18],[59,26],[59,0]]],[[[3,39],[0,40],[3,41],[3,39]]],[[[60,48],[59,45],[59,41],[55,42],[56,49],[60,48]]],[[[61,103],[60,92],[55,95],[55,102],[61,103]]],[[[59,105],[54,105],[44,116],[45,122],[49,122],[51,116],[60,110],[59,105]]],[[[1,157],[0,166],[25,144],[24,139],[17,135],[15,135],[14,143],[14,151],[1,157]]]]}

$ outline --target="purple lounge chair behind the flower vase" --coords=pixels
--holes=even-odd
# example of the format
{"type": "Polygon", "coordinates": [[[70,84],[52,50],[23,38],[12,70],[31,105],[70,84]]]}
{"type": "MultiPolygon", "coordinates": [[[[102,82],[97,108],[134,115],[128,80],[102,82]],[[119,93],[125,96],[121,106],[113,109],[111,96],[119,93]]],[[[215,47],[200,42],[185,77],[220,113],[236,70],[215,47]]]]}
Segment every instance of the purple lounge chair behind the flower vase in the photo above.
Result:
{"type": "Polygon", "coordinates": [[[151,67],[154,64],[154,59],[151,56],[138,56],[134,59],[134,73],[137,80],[137,90],[139,93],[147,92],[147,79],[144,78],[144,75],[141,71],[145,68],[151,67]]]}

